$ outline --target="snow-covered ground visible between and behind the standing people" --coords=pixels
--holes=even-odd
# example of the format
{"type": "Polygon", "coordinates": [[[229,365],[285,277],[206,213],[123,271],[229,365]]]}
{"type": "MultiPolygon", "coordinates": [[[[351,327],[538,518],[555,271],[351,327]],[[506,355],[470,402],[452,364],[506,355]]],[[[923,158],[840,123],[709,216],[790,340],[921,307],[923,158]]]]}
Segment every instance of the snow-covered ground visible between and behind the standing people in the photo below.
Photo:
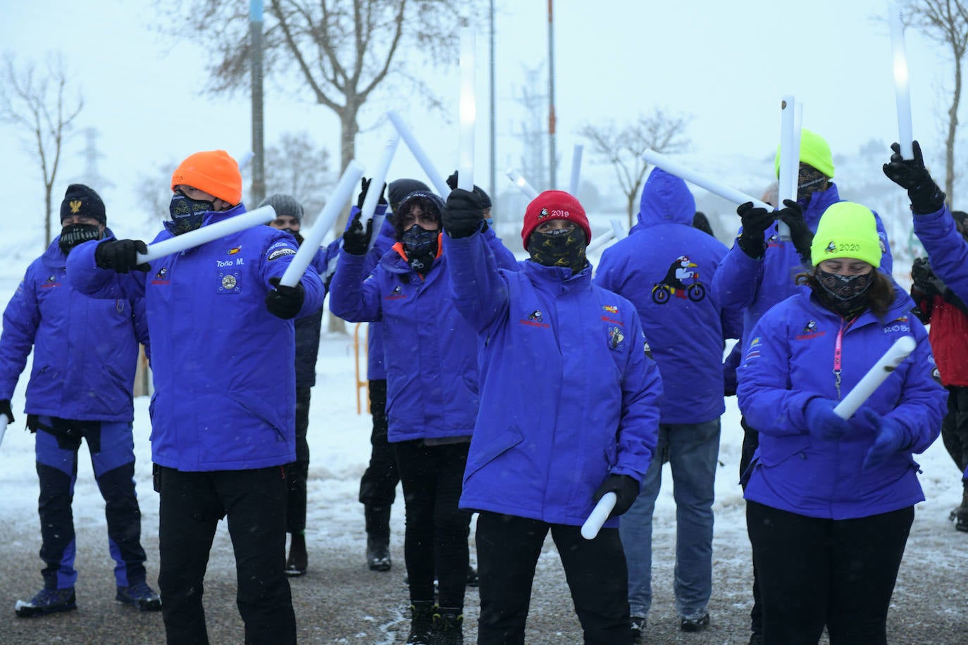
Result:
{"type": "MultiPolygon", "coordinates": [[[[516,248],[509,245],[511,248],[516,248]]],[[[7,261],[0,266],[0,303],[6,306],[13,295],[16,284],[23,274],[27,264],[40,254],[41,245],[34,238],[16,241],[0,241],[0,252],[7,261]]],[[[597,259],[597,258],[593,258],[597,259]]],[[[325,325],[325,323],[324,323],[325,325]]],[[[325,327],[324,327],[325,329],[325,327]]],[[[307,539],[311,553],[311,568],[324,568],[326,565],[320,559],[313,559],[315,553],[325,549],[334,552],[350,552],[359,554],[362,564],[363,552],[363,517],[361,505],[357,502],[359,478],[367,465],[369,456],[370,417],[365,414],[365,392],[359,396],[363,400],[364,414],[356,411],[356,377],[354,372],[354,349],[352,339],[352,325],[348,325],[349,336],[324,336],[319,349],[317,365],[318,380],[313,390],[311,406],[311,424],[309,442],[311,447],[310,482],[309,482],[309,511],[307,521],[307,539]]],[[[362,330],[361,330],[362,332],[362,330]]],[[[362,356],[361,356],[362,360],[362,356]]],[[[365,369],[365,364],[364,369],[365,369]]],[[[0,581],[0,643],[11,642],[4,637],[4,625],[11,629],[9,621],[13,617],[13,603],[16,598],[27,597],[41,586],[40,569],[42,564],[37,558],[40,547],[40,531],[37,517],[37,475],[34,466],[34,440],[32,435],[24,430],[25,415],[23,414],[23,393],[27,382],[30,366],[28,365],[20,377],[13,399],[13,409],[16,423],[12,425],[0,446],[0,520],[3,529],[0,534],[8,536],[0,541],[0,561],[26,563],[20,571],[29,572],[23,579],[3,579],[0,581]],[[36,563],[36,564],[35,564],[36,563]],[[32,576],[32,577],[31,577],[32,576]],[[8,605],[9,603],[9,605],[8,605]]],[[[363,377],[365,378],[365,372],[363,377]]],[[[158,526],[158,497],[151,487],[151,456],[148,436],[150,425],[147,414],[148,399],[145,396],[136,399],[135,445],[136,445],[136,480],[141,510],[143,513],[142,531],[148,550],[149,581],[154,584],[153,573],[157,573],[157,526],[158,526]]],[[[742,431],[740,416],[736,408],[736,399],[727,399],[727,411],[722,419],[722,439],[719,453],[720,469],[716,480],[715,512],[715,555],[716,567],[735,579],[721,579],[717,574],[713,589],[713,603],[719,607],[719,616],[733,611],[736,616],[734,622],[744,624],[744,612],[748,612],[749,598],[745,595],[748,588],[748,541],[746,538],[744,507],[741,489],[737,484],[738,464],[742,431]],[[723,607],[726,607],[724,610],[723,607]]],[[[923,475],[921,481],[927,501],[918,508],[915,525],[909,541],[908,555],[917,558],[914,564],[909,563],[906,556],[902,566],[901,579],[895,592],[894,604],[904,605],[910,601],[919,606],[926,604],[933,607],[929,613],[953,615],[951,621],[961,626],[957,633],[929,637],[923,642],[968,642],[964,637],[968,629],[968,619],[965,618],[965,604],[963,596],[968,583],[959,589],[935,589],[929,583],[928,573],[934,569],[954,570],[954,577],[965,580],[963,570],[968,553],[968,534],[956,533],[948,522],[949,511],[960,502],[961,485],[959,473],[951,458],[945,452],[940,441],[936,441],[928,451],[918,459],[922,464],[923,475]],[[917,568],[917,569],[914,569],[917,568]],[[938,601],[932,604],[934,594],[942,594],[945,598],[962,599],[948,605],[948,601],[938,601]]],[[[78,535],[85,531],[94,530],[97,537],[97,548],[104,555],[104,568],[109,570],[104,549],[104,503],[94,482],[86,444],[81,449],[79,459],[79,473],[76,485],[74,503],[75,522],[78,535]]],[[[659,614],[669,606],[671,596],[671,562],[668,558],[674,553],[675,540],[675,504],[672,498],[671,477],[669,469],[665,470],[665,480],[660,498],[655,509],[655,586],[656,605],[653,613],[659,614]]],[[[403,508],[401,496],[395,505],[393,526],[393,548],[396,559],[394,572],[403,576],[403,508]]],[[[560,565],[554,548],[546,544],[545,556],[539,564],[539,572],[548,568],[555,570],[559,584],[560,565]]],[[[225,523],[219,528],[215,550],[222,550],[223,555],[230,549],[227,542],[225,523]]],[[[794,554],[792,554],[794,555],[794,554]]],[[[473,555],[471,556],[473,559],[473,555]]],[[[213,561],[216,556],[213,551],[213,561]]],[[[360,568],[361,569],[361,568],[360,568]]],[[[230,571],[230,570],[229,570],[230,571]]],[[[360,573],[356,573],[359,575],[360,573]]],[[[83,575],[83,572],[82,572],[83,575]]],[[[210,576],[211,577],[211,576],[210,576]]],[[[229,581],[230,582],[230,581],[229,581]]],[[[300,584],[310,584],[307,579],[297,581],[294,585],[294,595],[300,584]]],[[[230,584],[229,584],[230,588],[230,584]]],[[[406,590],[395,588],[393,594],[395,602],[400,607],[406,606],[406,590]]],[[[537,593],[537,592],[536,592],[537,593]]],[[[564,590],[566,594],[566,590],[564,590]]],[[[476,597],[476,594],[474,594],[476,597]]],[[[78,598],[79,601],[79,598],[78,598]]],[[[476,598],[474,598],[476,601],[476,598]]],[[[559,597],[563,612],[568,615],[570,601],[559,597]]],[[[470,602],[470,600],[469,600],[470,602]]],[[[541,611],[535,606],[534,612],[541,611]]],[[[77,613],[77,612],[72,612],[77,613]]],[[[465,632],[468,642],[473,642],[472,633],[474,621],[472,611],[469,611],[469,624],[465,632]]],[[[399,614],[399,611],[398,611],[399,614]]],[[[674,614],[673,614],[674,615],[674,614]]],[[[46,620],[46,619],[44,619],[46,620]]],[[[373,619],[371,619],[373,620],[373,619]]],[[[535,620],[537,616],[535,615],[535,620]]],[[[715,625],[717,615],[713,615],[715,625]]],[[[904,617],[898,620],[906,620],[904,617]]],[[[927,625],[934,620],[931,615],[918,619],[927,625]]],[[[650,617],[650,626],[653,618],[650,617]]],[[[19,629],[23,621],[16,621],[19,629]]],[[[569,629],[573,629],[573,625],[569,629]]],[[[373,628],[373,626],[371,626],[373,628]]],[[[320,628],[321,629],[321,628],[320,628]]],[[[374,628],[375,629],[375,628],[374,628]]],[[[947,628],[946,628],[947,629],[947,628]]],[[[373,632],[362,630],[355,638],[330,639],[320,633],[320,637],[311,638],[317,642],[393,642],[392,635],[387,639],[386,630],[380,628],[383,635],[377,638],[373,632]],[[369,633],[369,635],[367,635],[369,633]]],[[[303,632],[304,633],[304,632],[303,632]]],[[[557,632],[560,639],[549,636],[541,642],[574,642],[568,636],[557,632]]],[[[566,633],[574,633],[566,632],[566,633]]],[[[76,634],[75,634],[76,635],[76,634]]],[[[161,638],[161,634],[158,634],[161,638]]],[[[303,640],[306,638],[303,636],[303,640]]],[[[397,635],[402,638],[400,634],[397,635]]],[[[671,636],[670,636],[671,638],[671,636]]],[[[728,635],[719,633],[714,642],[744,642],[748,633],[741,630],[728,635]]],[[[60,639],[61,642],[93,642],[87,637],[60,639]]],[[[28,642],[18,638],[16,642],[28,642]]],[[[32,641],[30,641],[32,642],[32,641]]],[[[42,642],[38,640],[37,642],[42,642]]],[[[45,641],[48,642],[48,641],[45,641]]],[[[529,642],[536,642],[531,639],[529,642]]],[[[672,640],[654,640],[654,642],[674,642],[672,640]]],[[[675,642],[679,642],[678,636],[675,642]]],[[[713,642],[713,634],[706,637],[695,636],[682,642],[713,642]]],[[[894,641],[892,641],[894,642],[894,641]]],[[[898,640],[896,642],[916,642],[914,640],[898,640]]]]}

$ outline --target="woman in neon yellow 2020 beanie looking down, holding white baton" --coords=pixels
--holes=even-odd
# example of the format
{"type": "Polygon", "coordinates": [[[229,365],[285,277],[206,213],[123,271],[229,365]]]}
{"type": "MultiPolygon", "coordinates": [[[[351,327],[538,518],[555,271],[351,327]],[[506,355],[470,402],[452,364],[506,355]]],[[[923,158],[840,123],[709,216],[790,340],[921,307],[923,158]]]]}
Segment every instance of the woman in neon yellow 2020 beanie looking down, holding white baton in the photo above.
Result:
{"type": "Polygon", "coordinates": [[[838,202],[810,248],[809,287],[771,308],[744,348],[742,414],[760,430],[745,477],[765,643],[887,642],[894,581],[923,501],[918,464],[947,393],[923,325],[876,269],[873,214],[838,202]],[[850,420],[834,406],[902,336],[918,342],[850,420]]]}

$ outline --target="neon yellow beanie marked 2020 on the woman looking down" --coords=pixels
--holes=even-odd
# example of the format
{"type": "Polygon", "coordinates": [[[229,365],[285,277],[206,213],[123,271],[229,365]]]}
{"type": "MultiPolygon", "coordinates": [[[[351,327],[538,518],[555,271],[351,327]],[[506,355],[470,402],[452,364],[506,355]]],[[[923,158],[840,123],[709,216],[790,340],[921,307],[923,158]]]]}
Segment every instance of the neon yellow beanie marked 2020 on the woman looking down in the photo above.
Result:
{"type": "Polygon", "coordinates": [[[824,212],[810,245],[813,266],[824,260],[849,257],[876,268],[881,266],[882,253],[874,214],[852,201],[838,201],[824,212]]]}

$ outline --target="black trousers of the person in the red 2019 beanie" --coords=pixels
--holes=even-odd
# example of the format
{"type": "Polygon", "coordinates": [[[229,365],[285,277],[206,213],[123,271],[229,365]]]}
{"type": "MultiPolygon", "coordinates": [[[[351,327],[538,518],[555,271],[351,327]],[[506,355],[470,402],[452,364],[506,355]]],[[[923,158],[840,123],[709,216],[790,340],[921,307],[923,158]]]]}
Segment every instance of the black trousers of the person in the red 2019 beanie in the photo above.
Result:
{"type": "Polygon", "coordinates": [[[478,645],[525,642],[534,568],[549,530],[585,631],[585,643],[631,643],[628,570],[619,529],[602,529],[594,540],[586,540],[578,526],[481,512],[476,534],[481,599],[478,645]]]}

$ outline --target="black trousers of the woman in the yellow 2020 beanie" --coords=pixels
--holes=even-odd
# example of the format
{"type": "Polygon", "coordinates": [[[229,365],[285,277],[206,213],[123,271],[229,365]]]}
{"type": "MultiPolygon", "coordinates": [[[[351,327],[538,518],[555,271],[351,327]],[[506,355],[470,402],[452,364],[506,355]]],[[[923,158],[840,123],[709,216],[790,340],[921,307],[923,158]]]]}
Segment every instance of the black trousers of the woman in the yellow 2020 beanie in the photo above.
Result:
{"type": "Polygon", "coordinates": [[[765,643],[887,643],[888,607],[914,507],[823,519],[746,502],[765,643]]]}

